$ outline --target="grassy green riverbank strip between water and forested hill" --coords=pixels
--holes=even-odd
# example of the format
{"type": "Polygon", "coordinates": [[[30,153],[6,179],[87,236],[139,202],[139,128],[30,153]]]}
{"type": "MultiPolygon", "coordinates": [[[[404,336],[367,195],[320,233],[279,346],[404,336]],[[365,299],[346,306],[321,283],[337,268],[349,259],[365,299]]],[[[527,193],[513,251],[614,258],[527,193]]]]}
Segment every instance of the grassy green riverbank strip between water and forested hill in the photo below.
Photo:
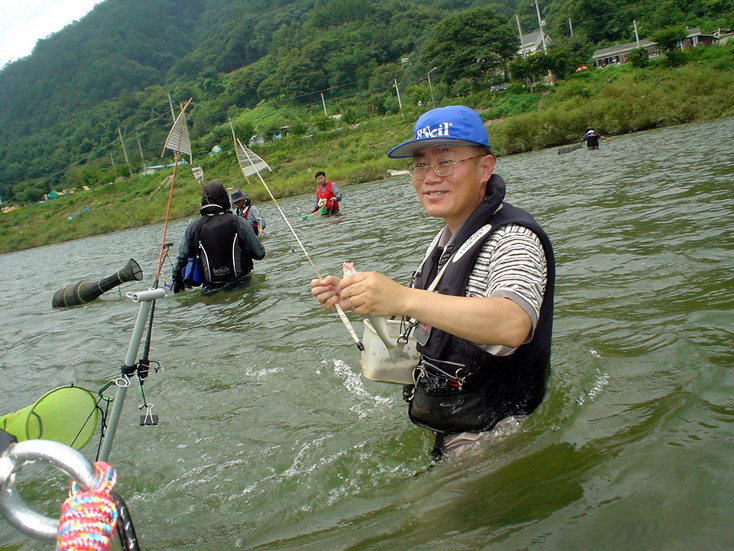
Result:
{"type": "MultiPolygon", "coordinates": [[[[441,105],[466,104],[482,113],[498,155],[572,143],[587,126],[618,135],[734,116],[734,45],[696,48],[686,53],[684,61],[677,67],[663,59],[645,68],[625,64],[589,70],[532,92],[513,85],[500,93],[437,100],[441,105]]],[[[263,116],[261,110],[267,107],[245,112],[234,121],[235,127],[251,127],[248,117],[263,116]]],[[[398,115],[352,125],[342,121],[310,136],[290,135],[253,149],[273,168],[266,181],[276,197],[312,192],[313,173],[320,169],[348,193],[349,185],[386,177],[388,169],[407,168],[407,162],[390,160],[385,152],[410,138],[412,124],[424,110],[404,103],[398,115]]],[[[222,151],[195,157],[194,163],[202,166],[207,179],[244,189],[256,202],[268,200],[259,182],[248,186],[244,181],[231,140],[226,139],[228,128],[222,125],[202,138],[216,141],[222,151]]],[[[0,253],[160,223],[168,199],[168,186],[162,184],[168,174],[170,170],[121,179],[3,213],[0,253]],[[77,215],[85,208],[89,210],[77,215]]],[[[304,206],[309,201],[310,197],[304,199],[304,206]]],[[[195,215],[199,204],[198,184],[189,167],[180,168],[172,218],[195,215]]]]}

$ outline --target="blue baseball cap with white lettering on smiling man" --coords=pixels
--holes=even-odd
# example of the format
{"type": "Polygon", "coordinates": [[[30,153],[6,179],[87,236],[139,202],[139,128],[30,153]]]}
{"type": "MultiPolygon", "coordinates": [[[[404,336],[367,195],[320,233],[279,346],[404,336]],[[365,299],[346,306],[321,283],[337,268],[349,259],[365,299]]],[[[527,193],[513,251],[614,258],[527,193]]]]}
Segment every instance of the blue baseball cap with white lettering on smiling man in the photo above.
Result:
{"type": "Polygon", "coordinates": [[[463,105],[438,107],[423,113],[413,127],[413,139],[387,152],[391,159],[412,157],[416,151],[434,145],[483,145],[489,135],[479,113],[463,105]]]}

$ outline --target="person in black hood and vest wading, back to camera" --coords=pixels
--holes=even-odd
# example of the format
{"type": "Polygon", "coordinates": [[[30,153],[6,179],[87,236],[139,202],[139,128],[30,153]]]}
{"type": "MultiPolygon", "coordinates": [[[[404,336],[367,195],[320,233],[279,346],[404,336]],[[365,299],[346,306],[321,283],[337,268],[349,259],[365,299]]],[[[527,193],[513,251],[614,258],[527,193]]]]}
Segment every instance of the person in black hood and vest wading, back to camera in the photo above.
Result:
{"type": "Polygon", "coordinates": [[[208,290],[246,276],[253,269],[253,259],[265,257],[265,248],[252,226],[230,210],[229,196],[222,184],[216,181],[206,184],[201,205],[201,218],[188,225],[178,248],[173,270],[174,293],[191,284],[184,281],[184,267],[191,258],[201,260],[201,284],[208,290]]]}

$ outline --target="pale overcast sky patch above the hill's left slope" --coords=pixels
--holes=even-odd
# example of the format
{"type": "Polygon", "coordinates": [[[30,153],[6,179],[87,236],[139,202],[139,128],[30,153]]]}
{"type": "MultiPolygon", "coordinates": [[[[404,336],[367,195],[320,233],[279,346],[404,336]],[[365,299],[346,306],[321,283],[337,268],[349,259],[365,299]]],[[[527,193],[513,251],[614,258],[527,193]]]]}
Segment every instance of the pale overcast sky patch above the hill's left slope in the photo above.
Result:
{"type": "Polygon", "coordinates": [[[81,19],[102,0],[0,0],[0,68],[31,53],[39,38],[81,19]]]}

